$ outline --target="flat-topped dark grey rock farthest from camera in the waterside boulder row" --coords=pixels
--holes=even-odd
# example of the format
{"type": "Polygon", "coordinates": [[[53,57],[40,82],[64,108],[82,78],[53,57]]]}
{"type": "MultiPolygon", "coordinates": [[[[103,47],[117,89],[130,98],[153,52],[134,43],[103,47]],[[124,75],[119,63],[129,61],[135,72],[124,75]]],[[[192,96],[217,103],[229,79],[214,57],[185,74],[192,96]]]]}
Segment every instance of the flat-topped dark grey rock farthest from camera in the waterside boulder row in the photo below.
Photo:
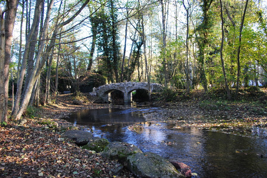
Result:
{"type": "Polygon", "coordinates": [[[69,130],[61,134],[61,137],[75,140],[77,145],[86,145],[93,134],[86,131],[69,130]]]}

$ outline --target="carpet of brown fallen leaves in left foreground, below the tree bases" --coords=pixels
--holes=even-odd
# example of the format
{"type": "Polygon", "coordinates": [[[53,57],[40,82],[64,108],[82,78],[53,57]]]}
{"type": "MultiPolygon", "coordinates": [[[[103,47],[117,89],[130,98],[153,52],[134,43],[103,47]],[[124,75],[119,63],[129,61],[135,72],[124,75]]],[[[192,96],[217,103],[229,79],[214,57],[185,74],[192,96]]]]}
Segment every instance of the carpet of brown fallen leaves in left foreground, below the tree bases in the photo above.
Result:
{"type": "MultiPolygon", "coordinates": [[[[83,150],[72,140],[61,138],[58,130],[42,130],[43,126],[35,122],[29,119],[28,128],[0,128],[0,177],[96,177],[95,170],[100,170],[98,177],[113,177],[111,169],[116,161],[83,150]],[[10,131],[9,135],[4,131],[10,131]]],[[[126,177],[132,177],[130,172],[124,172],[126,177]]]]}

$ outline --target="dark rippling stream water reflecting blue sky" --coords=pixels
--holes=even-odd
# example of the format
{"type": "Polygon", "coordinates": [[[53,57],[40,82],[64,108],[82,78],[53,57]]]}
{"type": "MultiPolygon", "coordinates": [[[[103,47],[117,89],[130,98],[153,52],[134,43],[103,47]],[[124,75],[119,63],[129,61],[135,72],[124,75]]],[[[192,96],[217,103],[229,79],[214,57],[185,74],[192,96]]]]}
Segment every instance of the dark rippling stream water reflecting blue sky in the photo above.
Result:
{"type": "Polygon", "coordinates": [[[143,152],[154,152],[168,160],[183,162],[198,174],[197,177],[267,177],[265,131],[258,132],[265,135],[261,138],[250,138],[199,128],[174,129],[172,124],[147,122],[144,115],[158,109],[138,105],[127,109],[86,109],[73,113],[66,120],[85,125],[94,136],[110,142],[128,142],[143,152]],[[127,126],[132,124],[142,128],[130,131],[127,126]]]}

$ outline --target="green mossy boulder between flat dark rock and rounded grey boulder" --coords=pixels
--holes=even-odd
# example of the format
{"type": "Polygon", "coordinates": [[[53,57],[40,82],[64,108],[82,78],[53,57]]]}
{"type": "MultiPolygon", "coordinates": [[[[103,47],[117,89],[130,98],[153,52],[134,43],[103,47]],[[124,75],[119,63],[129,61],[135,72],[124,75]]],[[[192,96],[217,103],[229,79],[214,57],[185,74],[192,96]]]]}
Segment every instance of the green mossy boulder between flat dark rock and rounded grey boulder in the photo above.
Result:
{"type": "Polygon", "coordinates": [[[82,147],[82,149],[94,150],[96,152],[102,152],[104,148],[109,144],[107,139],[100,137],[93,137],[89,142],[82,147]]]}

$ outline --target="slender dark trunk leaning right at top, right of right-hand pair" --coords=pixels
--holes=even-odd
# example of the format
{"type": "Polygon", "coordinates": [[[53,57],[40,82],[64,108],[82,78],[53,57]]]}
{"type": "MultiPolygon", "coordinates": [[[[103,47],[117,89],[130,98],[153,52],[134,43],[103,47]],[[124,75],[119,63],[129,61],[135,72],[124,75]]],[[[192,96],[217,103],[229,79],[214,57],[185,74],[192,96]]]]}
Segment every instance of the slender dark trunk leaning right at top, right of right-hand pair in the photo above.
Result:
{"type": "Polygon", "coordinates": [[[244,8],[244,13],[241,19],[241,24],[240,24],[240,29],[239,29],[239,43],[238,43],[238,50],[237,50],[237,80],[236,80],[236,89],[235,89],[235,100],[237,99],[238,95],[238,90],[239,90],[239,75],[240,75],[240,48],[241,48],[241,36],[242,36],[242,28],[244,24],[244,19],[246,15],[246,9],[248,6],[248,1],[246,0],[245,8],[244,8]]]}

